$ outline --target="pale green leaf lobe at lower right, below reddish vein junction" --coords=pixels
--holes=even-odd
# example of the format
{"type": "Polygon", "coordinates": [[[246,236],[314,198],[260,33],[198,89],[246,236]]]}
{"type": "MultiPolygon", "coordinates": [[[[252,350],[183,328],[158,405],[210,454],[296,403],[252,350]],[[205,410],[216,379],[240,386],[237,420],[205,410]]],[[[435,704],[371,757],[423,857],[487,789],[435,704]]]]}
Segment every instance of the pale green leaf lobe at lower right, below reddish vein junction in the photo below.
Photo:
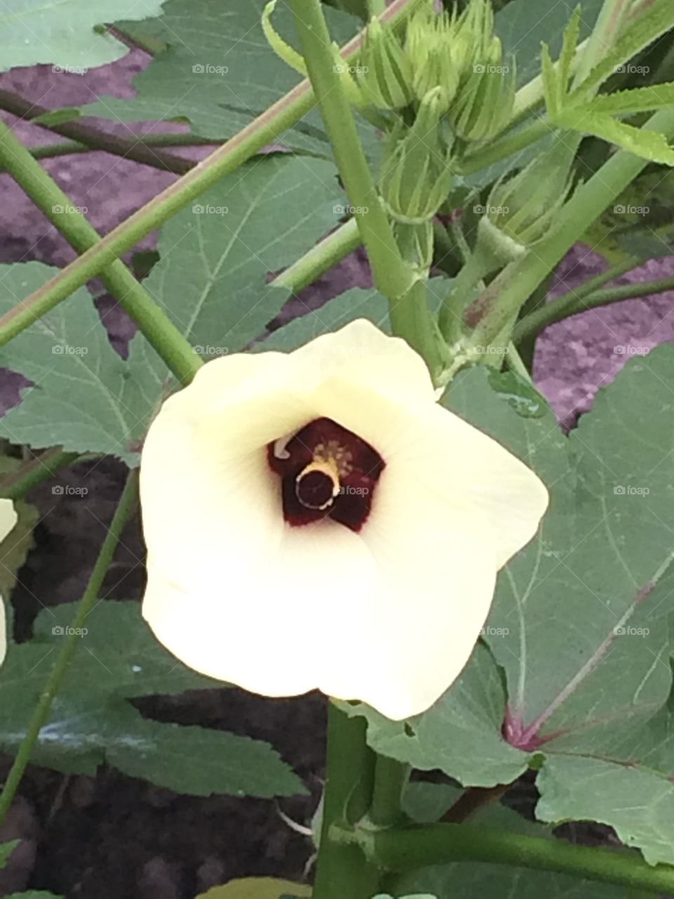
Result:
{"type": "Polygon", "coordinates": [[[674,784],[668,779],[600,759],[558,756],[545,762],[537,787],[540,820],[607,823],[649,864],[674,859],[674,784]]]}

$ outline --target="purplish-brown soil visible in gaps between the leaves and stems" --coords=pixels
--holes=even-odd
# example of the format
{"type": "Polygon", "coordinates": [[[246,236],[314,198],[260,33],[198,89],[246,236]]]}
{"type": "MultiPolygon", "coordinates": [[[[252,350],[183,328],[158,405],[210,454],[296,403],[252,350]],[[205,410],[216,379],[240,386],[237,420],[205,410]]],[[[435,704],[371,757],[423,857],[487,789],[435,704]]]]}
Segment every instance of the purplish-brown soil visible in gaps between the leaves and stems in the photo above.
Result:
{"type": "MultiPolygon", "coordinates": [[[[77,105],[102,95],[131,95],[130,78],[145,64],[144,54],[134,51],[120,62],[84,76],[54,74],[50,67],[20,69],[0,77],[0,87],[49,108],[77,105]]],[[[34,126],[10,116],[5,119],[31,144],[51,139],[34,126]]],[[[106,127],[129,134],[123,124],[108,123],[106,127]]],[[[200,158],[208,149],[180,152],[200,158]]],[[[129,216],[174,177],[104,153],[64,156],[44,165],[74,205],[87,207],[88,217],[102,232],[129,216]]],[[[63,265],[73,258],[65,241],[6,175],[0,176],[0,200],[1,262],[38,259],[63,265]]],[[[141,247],[148,249],[154,244],[154,236],[148,236],[141,247]]],[[[575,247],[556,273],[552,294],[586,280],[604,264],[589,248],[575,247]]],[[[651,280],[673,271],[674,258],[669,257],[649,263],[621,281],[651,280]]],[[[352,254],[307,290],[302,302],[291,301],[284,316],[296,315],[306,306],[318,307],[344,289],[368,283],[363,255],[352,254]]],[[[672,340],[673,299],[672,294],[661,294],[631,300],[547,330],[538,342],[535,375],[561,423],[572,426],[578,414],[590,408],[597,389],[625,364],[629,352],[616,347],[650,347],[672,340]]],[[[111,342],[125,352],[133,326],[112,298],[102,294],[97,305],[111,342]]],[[[2,413],[16,402],[22,381],[6,370],[0,369],[0,375],[2,413]]],[[[59,473],[61,485],[85,484],[85,496],[55,495],[51,483],[30,494],[41,519],[36,545],[13,596],[16,638],[30,636],[31,622],[42,606],[81,596],[123,477],[123,467],[106,458],[59,473]]],[[[132,521],[104,588],[110,601],[140,597],[142,558],[137,521],[132,521]]],[[[288,647],[288,651],[301,652],[301,647],[288,647]]],[[[234,877],[306,877],[311,843],[294,832],[279,811],[304,824],[315,812],[324,765],[324,698],[311,694],[271,701],[242,690],[208,690],[181,698],[146,700],[142,710],[162,720],[198,723],[268,740],[297,770],[310,795],[283,800],[279,806],[248,798],[176,796],[105,767],[95,778],[31,767],[0,829],[0,841],[22,838],[11,865],[0,873],[0,895],[31,887],[67,899],[192,899],[209,886],[234,877]]],[[[5,757],[0,764],[0,777],[9,762],[5,757]]],[[[525,806],[530,809],[532,789],[521,785],[520,799],[523,789],[525,806]]]]}

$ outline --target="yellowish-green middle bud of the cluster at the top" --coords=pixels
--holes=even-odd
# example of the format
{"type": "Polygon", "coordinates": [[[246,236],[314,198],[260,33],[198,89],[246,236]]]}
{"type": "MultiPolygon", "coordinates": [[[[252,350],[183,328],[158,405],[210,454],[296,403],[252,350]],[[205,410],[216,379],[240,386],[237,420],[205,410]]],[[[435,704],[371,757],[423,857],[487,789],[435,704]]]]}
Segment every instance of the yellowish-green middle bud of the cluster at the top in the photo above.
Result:
{"type": "Polygon", "coordinates": [[[412,89],[418,101],[433,88],[441,93],[440,114],[447,112],[457,93],[459,75],[451,54],[454,19],[424,7],[407,26],[405,53],[412,65],[412,89]]]}

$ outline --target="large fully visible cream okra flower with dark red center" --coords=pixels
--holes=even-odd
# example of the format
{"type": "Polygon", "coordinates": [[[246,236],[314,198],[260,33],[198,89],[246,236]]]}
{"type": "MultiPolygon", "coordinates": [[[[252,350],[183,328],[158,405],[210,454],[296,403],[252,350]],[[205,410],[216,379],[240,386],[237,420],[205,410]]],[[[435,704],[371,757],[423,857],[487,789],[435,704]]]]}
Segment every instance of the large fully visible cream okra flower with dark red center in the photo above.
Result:
{"type": "Polygon", "coordinates": [[[448,412],[421,357],[367,321],[208,362],[140,470],[143,614],[197,671],[318,688],[389,718],[462,671],[544,485],[448,412]]]}

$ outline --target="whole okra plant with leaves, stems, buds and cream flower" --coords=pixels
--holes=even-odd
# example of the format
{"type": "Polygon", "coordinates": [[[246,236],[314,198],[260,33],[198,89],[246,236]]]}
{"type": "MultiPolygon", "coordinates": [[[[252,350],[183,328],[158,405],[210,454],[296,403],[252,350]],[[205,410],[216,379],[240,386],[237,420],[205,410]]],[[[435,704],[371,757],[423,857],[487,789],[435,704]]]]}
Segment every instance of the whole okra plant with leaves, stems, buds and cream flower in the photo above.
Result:
{"type": "Polygon", "coordinates": [[[5,69],[151,61],[130,99],[0,97],[69,138],[2,124],[0,165],[76,252],[0,267],[0,365],[27,385],[0,418],[0,816],[30,761],[306,792],[268,743],[129,700],[320,690],[323,797],[290,822],[306,882],[209,899],[674,895],[674,348],[636,353],[571,432],[531,375],[548,325],[674,289],[606,287],[674,254],[671,0],[7,6],[5,69]],[[199,165],[171,149],[197,143],[199,165]],[[40,164],[92,149],[179,176],[102,236],[40,164]],[[157,228],[140,277],[122,257],[157,228]],[[606,270],[547,301],[578,242],[606,270]],[[359,245],[371,288],[267,328],[359,245]],[[128,358],[94,278],[137,326],[128,358]],[[84,595],[17,642],[24,497],[106,456],[129,476],[84,595]],[[101,601],[137,509],[142,602],[101,601]]]}

